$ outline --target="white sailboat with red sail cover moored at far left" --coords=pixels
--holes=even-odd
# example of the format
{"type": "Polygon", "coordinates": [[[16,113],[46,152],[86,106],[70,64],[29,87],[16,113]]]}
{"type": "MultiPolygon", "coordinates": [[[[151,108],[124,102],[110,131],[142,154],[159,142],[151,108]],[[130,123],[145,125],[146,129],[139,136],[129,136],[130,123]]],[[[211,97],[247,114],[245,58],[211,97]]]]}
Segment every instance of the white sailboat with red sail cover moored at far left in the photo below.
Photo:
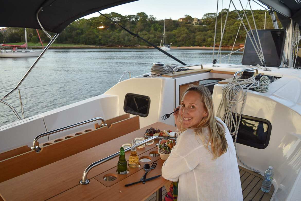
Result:
{"type": "MultiPolygon", "coordinates": [[[[13,49],[1,49],[0,57],[38,57],[42,53],[43,49],[40,49],[40,50],[27,49],[26,28],[24,28],[24,29],[25,29],[25,44],[23,44],[23,45],[0,44],[0,46],[9,46],[9,47],[13,48],[13,49]],[[23,48],[23,49],[18,49],[18,48],[23,48]]],[[[38,32],[38,34],[39,34],[39,32],[38,32]]],[[[42,41],[41,41],[41,43],[42,43],[42,41]]]]}

